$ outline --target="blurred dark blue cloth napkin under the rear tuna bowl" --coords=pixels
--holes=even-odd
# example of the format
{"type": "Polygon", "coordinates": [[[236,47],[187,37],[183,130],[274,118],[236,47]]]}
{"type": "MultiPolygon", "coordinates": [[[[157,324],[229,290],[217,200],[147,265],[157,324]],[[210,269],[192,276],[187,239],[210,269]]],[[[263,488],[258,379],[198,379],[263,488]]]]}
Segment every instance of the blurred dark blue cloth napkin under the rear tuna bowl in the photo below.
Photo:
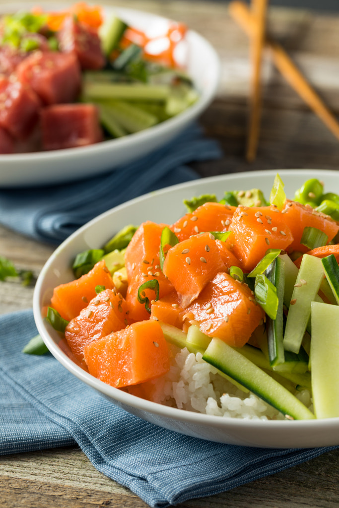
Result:
{"type": "Polygon", "coordinates": [[[194,123],[161,149],[110,173],[53,186],[0,190],[0,222],[37,240],[58,244],[114,206],[198,178],[185,165],[221,155],[218,143],[206,138],[194,123]]]}

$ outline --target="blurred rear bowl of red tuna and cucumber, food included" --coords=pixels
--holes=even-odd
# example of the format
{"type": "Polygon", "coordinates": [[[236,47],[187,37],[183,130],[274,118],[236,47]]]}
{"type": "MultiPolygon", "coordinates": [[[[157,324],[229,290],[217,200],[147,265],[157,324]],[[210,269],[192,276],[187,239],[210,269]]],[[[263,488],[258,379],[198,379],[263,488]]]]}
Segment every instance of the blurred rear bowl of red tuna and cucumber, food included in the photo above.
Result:
{"type": "Polygon", "coordinates": [[[0,8],[0,77],[0,184],[43,184],[173,139],[213,99],[219,58],[186,24],[147,12],[10,4],[0,8]]]}

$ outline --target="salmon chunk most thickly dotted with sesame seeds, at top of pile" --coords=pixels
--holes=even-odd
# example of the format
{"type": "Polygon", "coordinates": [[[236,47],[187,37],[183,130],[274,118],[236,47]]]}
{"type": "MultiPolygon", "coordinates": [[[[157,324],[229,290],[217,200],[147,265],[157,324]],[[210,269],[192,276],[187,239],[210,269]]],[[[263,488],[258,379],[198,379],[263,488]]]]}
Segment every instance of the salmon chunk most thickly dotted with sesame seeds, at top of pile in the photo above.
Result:
{"type": "Polygon", "coordinates": [[[229,230],[234,233],[233,253],[244,271],[253,270],[267,249],[286,250],[291,245],[293,234],[284,219],[273,206],[237,207],[229,230]]]}

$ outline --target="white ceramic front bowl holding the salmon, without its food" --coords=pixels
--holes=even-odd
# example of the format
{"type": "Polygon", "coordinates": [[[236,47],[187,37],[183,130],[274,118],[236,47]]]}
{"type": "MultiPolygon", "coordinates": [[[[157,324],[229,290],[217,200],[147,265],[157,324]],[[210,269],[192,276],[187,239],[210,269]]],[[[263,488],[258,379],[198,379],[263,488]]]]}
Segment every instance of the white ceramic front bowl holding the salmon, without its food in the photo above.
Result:
{"type": "MultiPolygon", "coordinates": [[[[134,415],[167,429],[207,440],[253,447],[310,448],[339,444],[339,418],[307,421],[246,421],[166,407],[148,402],[108,386],[75,365],[58,347],[59,335],[41,316],[53,288],[73,279],[70,268],[75,255],[88,248],[101,247],[127,224],[150,219],[172,223],[185,212],[182,200],[205,193],[221,199],[224,190],[259,187],[265,196],[276,171],[249,172],[205,178],[175,185],[120,205],[91,220],[61,244],[41,271],[34,294],[34,316],[38,330],[55,358],[72,374],[134,415]]],[[[321,178],[325,189],[339,192],[339,172],[327,170],[279,171],[288,197],[308,178],[321,178]]]]}

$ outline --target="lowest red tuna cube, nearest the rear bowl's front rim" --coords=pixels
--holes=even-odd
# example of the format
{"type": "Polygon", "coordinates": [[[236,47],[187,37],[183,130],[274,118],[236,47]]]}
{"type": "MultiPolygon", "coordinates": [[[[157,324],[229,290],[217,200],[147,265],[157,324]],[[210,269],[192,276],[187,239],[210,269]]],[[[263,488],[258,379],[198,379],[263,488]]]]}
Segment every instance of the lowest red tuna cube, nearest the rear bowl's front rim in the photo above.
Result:
{"type": "Polygon", "coordinates": [[[59,104],[41,111],[42,145],[58,150],[102,140],[99,113],[92,104],[59,104]]]}

